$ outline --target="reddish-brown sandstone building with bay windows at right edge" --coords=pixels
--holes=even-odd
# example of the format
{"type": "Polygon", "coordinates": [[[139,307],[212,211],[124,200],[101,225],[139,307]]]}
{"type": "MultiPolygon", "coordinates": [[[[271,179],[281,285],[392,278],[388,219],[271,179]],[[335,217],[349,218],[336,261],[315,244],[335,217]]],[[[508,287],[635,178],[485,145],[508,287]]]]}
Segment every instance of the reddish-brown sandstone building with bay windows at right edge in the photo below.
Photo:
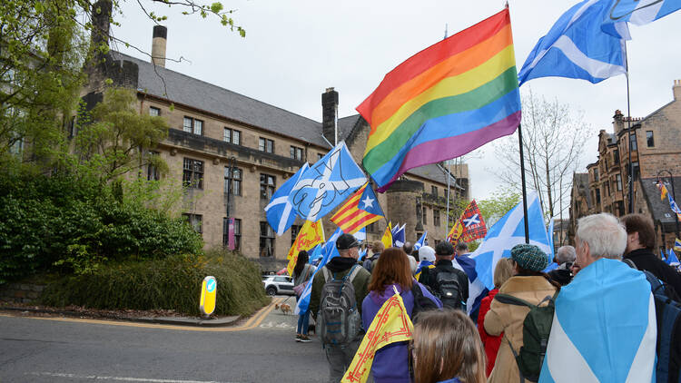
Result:
{"type": "Polygon", "coordinates": [[[615,111],[613,133],[598,133],[597,162],[587,165],[587,173],[573,176],[571,238],[579,217],[600,211],[619,217],[633,211],[653,219],[661,248],[673,243],[676,214],[666,199],[660,200],[656,183],[665,182],[670,193],[672,189],[681,191],[681,80],[674,81],[672,94],[671,102],[643,118],[629,118],[615,111]],[[629,177],[629,156],[633,179],[629,177]],[[631,207],[629,182],[633,182],[631,207]]]}

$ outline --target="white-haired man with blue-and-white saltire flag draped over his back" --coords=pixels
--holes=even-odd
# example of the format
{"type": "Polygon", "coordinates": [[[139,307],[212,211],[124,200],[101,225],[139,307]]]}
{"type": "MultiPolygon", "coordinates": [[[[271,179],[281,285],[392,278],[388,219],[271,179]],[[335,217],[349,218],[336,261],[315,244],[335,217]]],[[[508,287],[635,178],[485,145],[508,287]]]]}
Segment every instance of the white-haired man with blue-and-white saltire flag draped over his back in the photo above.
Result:
{"type": "Polygon", "coordinates": [[[656,316],[650,285],[621,261],[627,231],[611,214],[577,221],[572,282],[556,299],[539,382],[652,382],[656,316]]]}

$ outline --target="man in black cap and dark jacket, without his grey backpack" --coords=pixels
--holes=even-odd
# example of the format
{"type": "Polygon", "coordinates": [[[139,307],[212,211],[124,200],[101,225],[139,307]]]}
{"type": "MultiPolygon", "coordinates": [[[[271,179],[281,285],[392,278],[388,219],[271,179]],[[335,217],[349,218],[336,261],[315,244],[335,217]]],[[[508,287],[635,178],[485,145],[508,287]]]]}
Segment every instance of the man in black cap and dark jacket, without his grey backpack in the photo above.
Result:
{"type": "MultiPolygon", "coordinates": [[[[360,311],[360,314],[361,302],[368,293],[371,274],[357,263],[360,257],[360,242],[351,234],[342,234],[336,240],[336,249],[338,249],[341,256],[332,258],[326,266],[315,274],[314,280],[312,280],[310,311],[315,320],[317,320],[317,314],[320,309],[321,290],[327,281],[324,274],[331,273],[335,279],[341,280],[350,271],[354,273],[351,282],[355,290],[355,301],[357,302],[357,309],[360,311]],[[355,267],[353,268],[353,266],[355,267]],[[324,270],[327,272],[324,272],[324,270]]],[[[345,370],[350,366],[352,358],[355,356],[355,352],[360,347],[362,334],[360,334],[359,339],[352,341],[349,345],[324,345],[326,357],[329,361],[330,382],[341,381],[345,370]]]]}

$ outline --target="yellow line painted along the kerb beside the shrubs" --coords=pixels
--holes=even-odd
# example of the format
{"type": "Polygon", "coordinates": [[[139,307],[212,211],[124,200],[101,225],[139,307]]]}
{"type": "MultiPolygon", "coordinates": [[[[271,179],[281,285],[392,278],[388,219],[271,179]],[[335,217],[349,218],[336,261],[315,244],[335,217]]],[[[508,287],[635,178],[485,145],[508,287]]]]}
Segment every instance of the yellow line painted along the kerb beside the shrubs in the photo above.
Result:
{"type": "MultiPolygon", "coordinates": [[[[54,320],[61,322],[77,322],[77,323],[91,323],[107,326],[123,326],[123,327],[136,327],[143,329],[179,329],[184,331],[212,331],[212,332],[232,332],[232,331],[245,331],[248,329],[255,329],[260,325],[263,319],[274,309],[274,305],[281,303],[284,298],[278,298],[272,300],[271,303],[264,308],[256,312],[251,318],[246,320],[245,323],[235,327],[229,328],[205,328],[205,327],[191,327],[191,326],[177,326],[177,325],[163,325],[155,323],[135,323],[135,322],[124,322],[124,321],[114,321],[114,320],[103,320],[103,319],[76,319],[76,318],[50,318],[50,317],[25,317],[28,319],[40,319],[40,320],[54,320]]],[[[16,315],[0,313],[0,317],[17,317],[16,315]]]]}

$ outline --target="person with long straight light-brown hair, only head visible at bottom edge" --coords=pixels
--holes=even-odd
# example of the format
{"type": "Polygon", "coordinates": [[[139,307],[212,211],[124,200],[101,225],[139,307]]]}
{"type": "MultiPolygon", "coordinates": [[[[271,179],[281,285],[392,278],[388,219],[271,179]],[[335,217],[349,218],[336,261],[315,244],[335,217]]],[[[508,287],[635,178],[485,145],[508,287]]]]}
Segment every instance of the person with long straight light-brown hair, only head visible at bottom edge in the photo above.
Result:
{"type": "Polygon", "coordinates": [[[478,331],[461,310],[430,310],[419,316],[411,346],[414,381],[484,383],[485,353],[478,331]]]}

